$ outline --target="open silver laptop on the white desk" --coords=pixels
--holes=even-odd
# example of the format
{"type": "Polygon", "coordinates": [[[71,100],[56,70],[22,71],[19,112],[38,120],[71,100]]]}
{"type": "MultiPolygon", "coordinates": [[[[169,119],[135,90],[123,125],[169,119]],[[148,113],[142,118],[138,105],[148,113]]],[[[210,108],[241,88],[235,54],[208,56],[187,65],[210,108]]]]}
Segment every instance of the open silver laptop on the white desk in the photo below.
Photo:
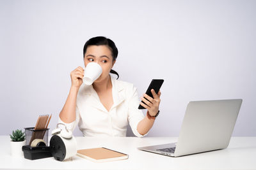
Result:
{"type": "Polygon", "coordinates": [[[242,99],[191,101],[177,143],[145,146],[139,150],[180,157],[227,148],[242,99]]]}

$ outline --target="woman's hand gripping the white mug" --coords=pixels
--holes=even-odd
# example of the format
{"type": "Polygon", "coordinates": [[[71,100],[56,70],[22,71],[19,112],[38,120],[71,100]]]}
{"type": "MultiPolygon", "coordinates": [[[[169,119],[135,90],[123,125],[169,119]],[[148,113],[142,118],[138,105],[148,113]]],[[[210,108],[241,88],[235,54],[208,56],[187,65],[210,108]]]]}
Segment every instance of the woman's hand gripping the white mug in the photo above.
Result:
{"type": "Polygon", "coordinates": [[[71,81],[72,81],[72,87],[75,87],[79,89],[79,87],[83,83],[83,77],[84,77],[84,69],[83,67],[77,67],[70,73],[71,81]]]}

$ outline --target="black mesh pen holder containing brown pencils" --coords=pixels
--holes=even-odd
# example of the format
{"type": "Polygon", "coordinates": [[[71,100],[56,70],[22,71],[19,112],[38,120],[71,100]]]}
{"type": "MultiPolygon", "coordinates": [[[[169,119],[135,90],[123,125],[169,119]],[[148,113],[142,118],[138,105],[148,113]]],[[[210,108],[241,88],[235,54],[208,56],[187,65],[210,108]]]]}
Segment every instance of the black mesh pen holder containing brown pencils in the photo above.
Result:
{"type": "Polygon", "coordinates": [[[26,127],[24,129],[25,129],[25,135],[26,135],[26,145],[31,145],[34,139],[43,139],[45,142],[45,145],[48,146],[49,128],[35,130],[35,127],[26,127]]]}

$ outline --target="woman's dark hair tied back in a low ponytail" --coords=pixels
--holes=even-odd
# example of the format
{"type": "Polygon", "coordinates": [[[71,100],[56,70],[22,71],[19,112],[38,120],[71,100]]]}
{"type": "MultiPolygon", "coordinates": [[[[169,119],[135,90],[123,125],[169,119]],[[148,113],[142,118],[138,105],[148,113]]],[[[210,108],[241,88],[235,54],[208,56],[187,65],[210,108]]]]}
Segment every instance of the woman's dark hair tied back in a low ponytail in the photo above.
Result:
{"type": "MultiPolygon", "coordinates": [[[[86,53],[86,50],[87,50],[87,47],[89,45],[107,45],[109,47],[109,49],[111,50],[111,53],[112,53],[112,57],[113,57],[113,60],[116,60],[117,58],[117,55],[118,55],[118,50],[116,48],[116,45],[115,43],[109,39],[109,38],[106,38],[104,36],[97,36],[97,37],[93,37],[91,39],[89,39],[88,41],[86,41],[86,43],[84,44],[84,53],[86,53]]],[[[119,74],[116,73],[115,70],[111,69],[110,70],[110,73],[112,74],[116,74],[117,75],[117,78],[119,78],[119,74]]]]}

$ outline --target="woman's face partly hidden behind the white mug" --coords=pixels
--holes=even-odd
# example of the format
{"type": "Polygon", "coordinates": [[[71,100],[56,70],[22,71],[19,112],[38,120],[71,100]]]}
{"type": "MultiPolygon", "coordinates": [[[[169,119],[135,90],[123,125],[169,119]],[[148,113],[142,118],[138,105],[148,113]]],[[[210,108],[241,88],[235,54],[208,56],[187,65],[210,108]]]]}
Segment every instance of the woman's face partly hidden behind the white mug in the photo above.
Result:
{"type": "Polygon", "coordinates": [[[89,62],[96,62],[102,67],[102,74],[99,76],[95,82],[100,82],[105,80],[110,70],[115,64],[113,57],[111,55],[111,50],[106,45],[90,45],[86,49],[84,54],[84,66],[86,67],[89,62]]]}

